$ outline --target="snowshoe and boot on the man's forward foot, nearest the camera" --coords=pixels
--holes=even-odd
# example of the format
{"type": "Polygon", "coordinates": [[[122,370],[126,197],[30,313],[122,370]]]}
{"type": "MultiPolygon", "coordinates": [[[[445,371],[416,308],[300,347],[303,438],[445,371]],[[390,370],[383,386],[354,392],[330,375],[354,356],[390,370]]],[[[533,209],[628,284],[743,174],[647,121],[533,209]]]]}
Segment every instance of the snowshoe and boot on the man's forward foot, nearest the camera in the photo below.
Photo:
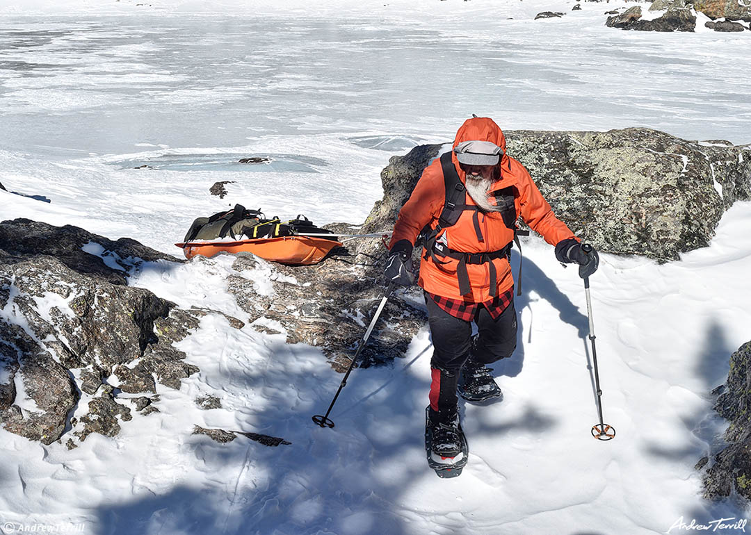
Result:
{"type": "Polygon", "coordinates": [[[425,409],[425,452],[428,466],[441,478],[460,476],[469,455],[461,423],[434,424],[430,421],[430,406],[425,409]]]}

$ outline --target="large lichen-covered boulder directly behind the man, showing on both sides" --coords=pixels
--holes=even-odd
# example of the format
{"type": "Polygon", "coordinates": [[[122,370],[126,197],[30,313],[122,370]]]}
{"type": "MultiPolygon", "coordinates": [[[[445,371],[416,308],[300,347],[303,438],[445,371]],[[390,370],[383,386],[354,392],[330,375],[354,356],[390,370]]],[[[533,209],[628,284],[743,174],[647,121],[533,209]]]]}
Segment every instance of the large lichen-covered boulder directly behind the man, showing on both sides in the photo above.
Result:
{"type": "MultiPolygon", "coordinates": [[[[675,260],[708,245],[735,200],[751,199],[751,146],[686,141],[648,128],[505,135],[508,155],[529,170],[556,215],[601,251],[675,260]]],[[[418,146],[391,158],[381,175],[385,197],[364,232],[390,228],[440,148],[418,146]]]]}

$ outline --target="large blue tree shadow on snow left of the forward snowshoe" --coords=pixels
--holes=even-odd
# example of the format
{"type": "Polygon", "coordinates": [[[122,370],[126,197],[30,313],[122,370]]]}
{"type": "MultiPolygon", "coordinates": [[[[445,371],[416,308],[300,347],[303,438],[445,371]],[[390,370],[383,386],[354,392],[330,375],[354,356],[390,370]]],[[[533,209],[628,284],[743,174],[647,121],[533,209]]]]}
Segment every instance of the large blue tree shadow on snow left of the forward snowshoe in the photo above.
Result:
{"type": "MultiPolygon", "coordinates": [[[[220,444],[185,436],[182,447],[195,453],[192,467],[205,472],[201,485],[186,477],[165,492],[144,494],[142,488],[131,499],[101,504],[95,533],[399,535],[430,518],[414,512],[414,504],[431,503],[418,494],[420,486],[442,484],[425,461],[429,383],[426,374],[412,373],[425,352],[392,365],[355,368],[330,414],[336,426],[320,428],[311,416],[325,413],[342,374],[327,366],[306,371],[304,362],[315,351],[309,346],[279,341],[267,348],[269,359],[303,364],[234,371],[234,385],[267,398],[261,407],[238,410],[237,430],[291,444],[267,447],[243,436],[220,444]],[[220,476],[227,473],[231,477],[220,476]]],[[[446,522],[451,519],[442,518],[446,522]]],[[[459,521],[451,529],[430,529],[469,535],[459,521]]]]}

